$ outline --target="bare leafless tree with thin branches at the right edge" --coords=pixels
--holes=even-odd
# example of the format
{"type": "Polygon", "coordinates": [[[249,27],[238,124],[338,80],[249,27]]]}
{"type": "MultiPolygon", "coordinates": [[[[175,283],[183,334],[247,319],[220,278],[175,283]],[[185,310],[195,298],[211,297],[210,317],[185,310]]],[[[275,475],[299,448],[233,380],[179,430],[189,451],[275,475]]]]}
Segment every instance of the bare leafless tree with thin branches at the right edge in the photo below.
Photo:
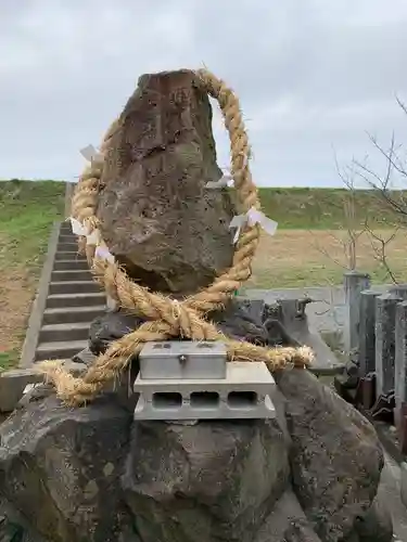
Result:
{"type": "MultiPolygon", "coordinates": [[[[402,114],[407,117],[407,105],[398,98],[396,102],[402,114]]],[[[382,280],[397,284],[399,281],[390,263],[389,248],[399,230],[407,227],[407,150],[396,142],[394,133],[387,147],[381,145],[378,139],[369,133],[368,138],[373,150],[384,160],[385,167],[382,175],[369,166],[369,156],[366,156],[364,160],[353,158],[349,165],[341,167],[334,152],[336,172],[345,188],[342,201],[338,204],[343,211],[344,221],[339,227],[339,232],[330,235],[339,245],[342,245],[345,262],[342,258],[332,255],[326,247],[319,246],[318,242],[315,246],[342,269],[354,271],[360,263],[360,260],[358,261],[360,243],[366,243],[368,238],[371,254],[378,267],[383,271],[382,280]],[[380,202],[379,212],[374,216],[371,216],[366,206],[369,198],[359,198],[360,181],[370,189],[370,201],[380,202]],[[403,186],[406,190],[400,190],[403,186]],[[367,208],[364,209],[361,205],[367,208]],[[380,208],[383,209],[382,214],[380,208]]]]}

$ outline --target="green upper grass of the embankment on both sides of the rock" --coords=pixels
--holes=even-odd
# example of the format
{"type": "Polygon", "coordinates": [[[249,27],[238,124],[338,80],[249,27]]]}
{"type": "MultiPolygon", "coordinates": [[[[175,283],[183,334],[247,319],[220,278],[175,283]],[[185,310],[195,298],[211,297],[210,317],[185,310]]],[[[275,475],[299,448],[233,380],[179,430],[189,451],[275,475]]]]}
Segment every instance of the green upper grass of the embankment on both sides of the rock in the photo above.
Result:
{"type": "MultiPolygon", "coordinates": [[[[264,212],[279,222],[280,228],[328,230],[344,225],[342,189],[259,189],[264,212]]],[[[64,205],[64,183],[53,181],[0,182],[0,234],[9,240],[8,258],[37,263],[37,255],[47,245],[50,224],[61,217],[64,205]]],[[[356,220],[369,217],[391,221],[392,212],[372,191],[356,193],[356,220]]],[[[0,266],[3,251],[0,253],[0,266]]]]}

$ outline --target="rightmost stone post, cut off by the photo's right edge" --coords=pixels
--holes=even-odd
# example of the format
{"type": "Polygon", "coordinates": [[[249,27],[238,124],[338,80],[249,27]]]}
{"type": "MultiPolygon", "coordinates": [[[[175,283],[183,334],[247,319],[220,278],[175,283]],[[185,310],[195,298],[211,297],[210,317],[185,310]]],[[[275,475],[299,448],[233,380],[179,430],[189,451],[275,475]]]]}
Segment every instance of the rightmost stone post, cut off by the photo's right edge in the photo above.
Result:
{"type": "Polygon", "coordinates": [[[400,426],[402,410],[407,403],[407,301],[397,305],[395,326],[395,369],[394,395],[396,408],[394,418],[396,427],[400,426]]]}

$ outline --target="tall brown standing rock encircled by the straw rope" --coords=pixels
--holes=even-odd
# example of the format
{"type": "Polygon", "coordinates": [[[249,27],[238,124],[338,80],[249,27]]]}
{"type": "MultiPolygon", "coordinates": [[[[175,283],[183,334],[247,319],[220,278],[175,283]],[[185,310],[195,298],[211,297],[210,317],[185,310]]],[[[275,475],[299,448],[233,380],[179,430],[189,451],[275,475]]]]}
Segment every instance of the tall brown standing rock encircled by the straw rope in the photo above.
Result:
{"type": "Polygon", "coordinates": [[[194,293],[231,264],[228,191],[216,164],[207,94],[193,72],[144,75],[109,143],[97,216],[130,276],[194,293]]]}

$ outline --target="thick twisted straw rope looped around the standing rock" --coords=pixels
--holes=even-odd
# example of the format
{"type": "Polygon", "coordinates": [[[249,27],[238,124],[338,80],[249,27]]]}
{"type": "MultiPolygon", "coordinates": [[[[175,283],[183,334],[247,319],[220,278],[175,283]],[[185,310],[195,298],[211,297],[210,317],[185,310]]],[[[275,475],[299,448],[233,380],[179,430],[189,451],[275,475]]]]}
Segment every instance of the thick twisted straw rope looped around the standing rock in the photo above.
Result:
{"type": "MultiPolygon", "coordinates": [[[[239,100],[226,83],[206,69],[196,72],[205,90],[215,98],[220,106],[225,126],[230,138],[231,175],[240,207],[243,212],[260,208],[257,189],[249,168],[250,146],[244,129],[239,100]]],[[[106,132],[101,146],[103,157],[109,139],[117,127],[115,120],[106,132]]],[[[99,233],[96,217],[99,183],[103,171],[103,159],[88,166],[73,197],[72,216],[89,231],[99,233]]],[[[288,366],[305,367],[313,361],[308,347],[264,348],[245,341],[232,340],[207,322],[208,312],[220,309],[232,298],[234,292],[252,274],[252,260],[258,246],[260,227],[249,225],[242,229],[233,255],[231,268],[218,276],[202,292],[175,301],[158,293],[137,285],[126,275],[117,263],[96,257],[96,246],[86,245],[87,257],[92,263],[96,280],[117,304],[147,320],[139,328],[115,340],[105,353],[99,356],[81,377],[74,377],[59,361],[38,364],[56,388],[58,396],[69,405],[78,406],[94,399],[129,363],[138,356],[143,345],[151,340],[166,340],[186,337],[192,340],[222,340],[227,345],[228,359],[241,361],[263,361],[270,371],[288,366]]],[[[86,237],[79,240],[85,246],[86,237]],[[84,241],[85,240],[85,241],[84,241]]],[[[99,233],[97,244],[104,245],[99,233]]]]}

